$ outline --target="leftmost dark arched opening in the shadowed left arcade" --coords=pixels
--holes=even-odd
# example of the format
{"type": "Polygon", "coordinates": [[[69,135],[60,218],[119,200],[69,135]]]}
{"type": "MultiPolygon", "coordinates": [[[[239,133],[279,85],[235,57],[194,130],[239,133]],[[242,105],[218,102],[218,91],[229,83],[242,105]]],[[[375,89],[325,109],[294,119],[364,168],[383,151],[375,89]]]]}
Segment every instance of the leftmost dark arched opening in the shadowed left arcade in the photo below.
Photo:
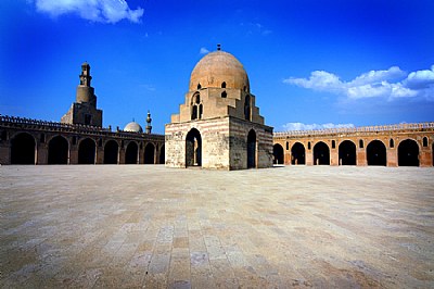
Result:
{"type": "Polygon", "coordinates": [[[26,133],[18,134],[11,143],[11,164],[35,164],[36,141],[26,133]]]}

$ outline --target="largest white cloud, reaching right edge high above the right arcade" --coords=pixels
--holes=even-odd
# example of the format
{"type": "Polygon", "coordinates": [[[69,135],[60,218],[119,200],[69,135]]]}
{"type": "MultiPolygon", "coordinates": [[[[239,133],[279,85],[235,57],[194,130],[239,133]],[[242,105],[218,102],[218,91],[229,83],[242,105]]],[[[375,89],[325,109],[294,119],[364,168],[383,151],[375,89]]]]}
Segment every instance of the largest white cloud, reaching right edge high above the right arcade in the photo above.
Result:
{"type": "Polygon", "coordinates": [[[398,66],[386,71],[370,71],[350,81],[343,81],[333,73],[315,71],[309,78],[290,77],[283,83],[346,96],[349,99],[425,98],[434,100],[434,65],[431,70],[403,72],[398,66]],[[404,79],[403,79],[404,78],[404,79]]]}

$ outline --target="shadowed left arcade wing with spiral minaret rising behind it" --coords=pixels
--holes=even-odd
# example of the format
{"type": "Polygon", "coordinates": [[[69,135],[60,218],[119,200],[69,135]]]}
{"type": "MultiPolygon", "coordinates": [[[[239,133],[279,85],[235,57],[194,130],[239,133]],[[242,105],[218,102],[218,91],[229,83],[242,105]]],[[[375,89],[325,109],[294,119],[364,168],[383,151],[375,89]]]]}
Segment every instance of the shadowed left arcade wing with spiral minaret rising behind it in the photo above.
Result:
{"type": "Polygon", "coordinates": [[[102,127],[102,110],[91,87],[90,65],[81,65],[76,101],[61,122],[0,115],[0,164],[163,164],[164,136],[131,122],[102,127]]]}

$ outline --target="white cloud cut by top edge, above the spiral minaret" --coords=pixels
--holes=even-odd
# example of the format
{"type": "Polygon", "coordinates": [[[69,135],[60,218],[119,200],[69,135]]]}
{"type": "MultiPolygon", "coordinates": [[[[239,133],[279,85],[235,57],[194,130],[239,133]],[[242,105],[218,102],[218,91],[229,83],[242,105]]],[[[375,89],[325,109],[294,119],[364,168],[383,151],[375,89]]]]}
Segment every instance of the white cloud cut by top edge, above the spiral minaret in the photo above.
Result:
{"type": "Polygon", "coordinates": [[[131,10],[125,0],[35,0],[39,12],[53,17],[74,13],[94,22],[116,23],[129,20],[139,23],[143,15],[140,7],[131,10]]]}

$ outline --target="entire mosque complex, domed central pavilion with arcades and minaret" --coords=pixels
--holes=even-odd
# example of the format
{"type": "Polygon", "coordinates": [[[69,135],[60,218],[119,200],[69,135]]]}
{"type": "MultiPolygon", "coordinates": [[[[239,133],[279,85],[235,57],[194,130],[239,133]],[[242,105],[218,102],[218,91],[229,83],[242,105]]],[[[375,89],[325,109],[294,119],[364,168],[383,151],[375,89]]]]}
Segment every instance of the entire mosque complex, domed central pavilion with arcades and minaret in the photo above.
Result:
{"type": "Polygon", "coordinates": [[[434,123],[273,133],[243,65],[219,47],[193,68],[165,135],[152,134],[149,112],[145,129],[135,121],[104,128],[91,79],[85,62],[76,101],[59,123],[0,114],[0,164],[434,165],[434,123]]]}

